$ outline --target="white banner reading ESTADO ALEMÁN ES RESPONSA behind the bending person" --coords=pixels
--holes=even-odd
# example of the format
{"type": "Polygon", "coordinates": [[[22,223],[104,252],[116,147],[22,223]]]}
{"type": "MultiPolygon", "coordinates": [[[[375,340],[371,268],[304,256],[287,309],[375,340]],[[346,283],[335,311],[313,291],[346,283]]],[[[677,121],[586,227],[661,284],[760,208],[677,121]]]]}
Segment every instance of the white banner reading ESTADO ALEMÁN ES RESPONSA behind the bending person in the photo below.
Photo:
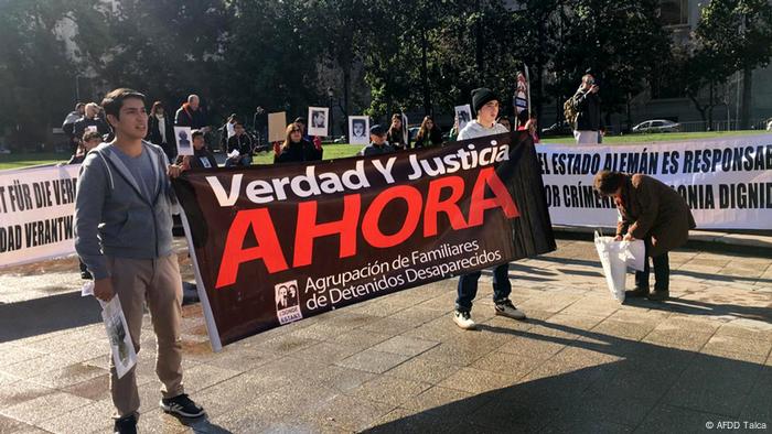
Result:
{"type": "Polygon", "coordinates": [[[772,229],[772,134],[634,145],[537,147],[554,225],[615,227],[592,189],[602,170],[643,173],[675,188],[698,229],[772,229]]]}

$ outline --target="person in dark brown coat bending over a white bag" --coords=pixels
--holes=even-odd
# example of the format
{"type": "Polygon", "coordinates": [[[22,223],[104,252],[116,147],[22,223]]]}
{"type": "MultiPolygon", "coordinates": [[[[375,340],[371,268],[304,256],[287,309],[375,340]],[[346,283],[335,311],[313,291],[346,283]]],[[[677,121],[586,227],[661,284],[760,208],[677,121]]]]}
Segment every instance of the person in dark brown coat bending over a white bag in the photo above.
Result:
{"type": "Polygon", "coordinates": [[[669,296],[671,265],[667,252],[686,243],[689,229],[696,227],[686,200],[666,184],[642,174],[602,171],[596,175],[594,187],[603,196],[612,196],[621,220],[616,240],[643,240],[646,261],[643,271],[635,272],[635,289],[626,296],[647,296],[662,301],[669,296]],[[654,262],[654,292],[648,293],[648,257],[654,262]]]}

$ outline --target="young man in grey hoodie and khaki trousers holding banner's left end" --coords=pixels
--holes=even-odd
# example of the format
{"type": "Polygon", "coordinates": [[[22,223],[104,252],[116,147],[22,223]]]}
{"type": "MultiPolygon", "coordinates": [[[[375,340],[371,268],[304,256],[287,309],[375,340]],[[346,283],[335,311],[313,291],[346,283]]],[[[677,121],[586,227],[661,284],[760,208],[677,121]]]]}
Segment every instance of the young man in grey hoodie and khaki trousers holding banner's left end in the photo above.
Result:
{"type": "MultiPolygon", "coordinates": [[[[75,200],[75,249],[94,275],[94,295],[120,300],[131,341],[139,351],[147,302],[158,339],[156,372],[163,383],[161,408],[197,417],[204,410],[182,386],[182,281],[172,250],[170,165],[147,135],[144,96],[116,89],[101,102],[115,140],[101,143],[81,166],[75,200]]],[[[116,406],[115,432],[136,433],[139,410],[136,367],[118,378],[110,359],[110,392],[116,406]]]]}

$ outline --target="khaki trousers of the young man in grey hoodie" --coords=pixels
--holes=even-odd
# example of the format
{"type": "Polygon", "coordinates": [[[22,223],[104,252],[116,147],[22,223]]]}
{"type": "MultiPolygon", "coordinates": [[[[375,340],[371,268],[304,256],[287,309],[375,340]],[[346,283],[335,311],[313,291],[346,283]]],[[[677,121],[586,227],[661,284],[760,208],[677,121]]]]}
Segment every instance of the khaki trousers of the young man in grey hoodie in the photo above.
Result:
{"type": "MultiPolygon", "coordinates": [[[[120,299],[131,341],[139,354],[144,303],[148,303],[158,340],[156,373],[163,383],[163,398],[184,393],[182,387],[182,279],[176,256],[158,259],[108,258],[112,289],[120,299]]],[[[137,366],[118,379],[110,357],[110,392],[119,417],[137,413],[137,366]]]]}

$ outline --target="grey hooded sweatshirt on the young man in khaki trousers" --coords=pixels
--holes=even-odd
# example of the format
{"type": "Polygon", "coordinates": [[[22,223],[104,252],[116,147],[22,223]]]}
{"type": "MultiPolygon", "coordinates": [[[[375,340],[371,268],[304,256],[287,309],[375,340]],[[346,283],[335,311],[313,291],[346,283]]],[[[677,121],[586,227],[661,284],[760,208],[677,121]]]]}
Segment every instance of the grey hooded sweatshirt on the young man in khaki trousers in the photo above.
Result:
{"type": "Polygon", "coordinates": [[[151,199],[109,143],[93,149],[81,166],[75,198],[75,250],[94,279],[110,276],[106,257],[153,259],[172,252],[172,208],[163,150],[142,142],[152,162],[151,199]]]}

